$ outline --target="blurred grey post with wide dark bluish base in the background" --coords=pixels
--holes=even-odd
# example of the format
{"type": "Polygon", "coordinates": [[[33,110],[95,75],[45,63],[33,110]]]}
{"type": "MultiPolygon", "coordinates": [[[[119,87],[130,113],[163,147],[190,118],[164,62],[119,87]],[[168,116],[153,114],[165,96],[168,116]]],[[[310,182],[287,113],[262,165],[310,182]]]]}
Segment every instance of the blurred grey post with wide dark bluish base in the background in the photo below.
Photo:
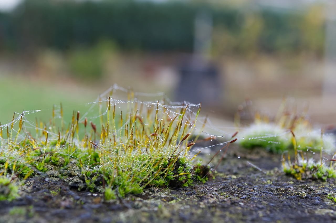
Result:
{"type": "Polygon", "coordinates": [[[202,102],[212,107],[218,104],[220,80],[217,66],[210,60],[211,39],[212,15],[200,11],[195,17],[194,54],[183,58],[179,66],[177,100],[202,102]]]}

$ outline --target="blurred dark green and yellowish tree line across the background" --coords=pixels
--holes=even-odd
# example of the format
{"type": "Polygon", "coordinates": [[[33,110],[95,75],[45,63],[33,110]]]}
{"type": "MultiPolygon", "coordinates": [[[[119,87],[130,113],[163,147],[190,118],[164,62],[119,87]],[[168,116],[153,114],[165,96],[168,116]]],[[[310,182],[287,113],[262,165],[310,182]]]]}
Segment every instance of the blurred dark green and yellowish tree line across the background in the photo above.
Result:
{"type": "Polygon", "coordinates": [[[0,14],[0,50],[68,51],[112,40],[119,49],[192,52],[194,19],[213,18],[213,53],[322,55],[325,18],[319,5],[296,11],[230,7],[200,1],[26,0],[0,14]]]}

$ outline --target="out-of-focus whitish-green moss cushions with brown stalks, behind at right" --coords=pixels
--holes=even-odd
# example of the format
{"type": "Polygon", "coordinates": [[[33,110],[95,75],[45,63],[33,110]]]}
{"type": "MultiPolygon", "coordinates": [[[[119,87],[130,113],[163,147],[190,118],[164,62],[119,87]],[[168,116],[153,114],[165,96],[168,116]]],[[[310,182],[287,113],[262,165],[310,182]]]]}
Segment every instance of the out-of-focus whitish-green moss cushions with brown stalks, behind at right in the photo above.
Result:
{"type": "Polygon", "coordinates": [[[293,150],[294,145],[290,140],[290,131],[296,135],[298,150],[335,151],[335,138],[331,135],[321,133],[321,130],[314,130],[305,113],[297,114],[293,109],[288,112],[286,100],[280,106],[279,112],[274,121],[270,122],[267,116],[255,115],[254,123],[242,128],[239,143],[245,148],[263,147],[274,153],[282,153],[293,150]]]}

